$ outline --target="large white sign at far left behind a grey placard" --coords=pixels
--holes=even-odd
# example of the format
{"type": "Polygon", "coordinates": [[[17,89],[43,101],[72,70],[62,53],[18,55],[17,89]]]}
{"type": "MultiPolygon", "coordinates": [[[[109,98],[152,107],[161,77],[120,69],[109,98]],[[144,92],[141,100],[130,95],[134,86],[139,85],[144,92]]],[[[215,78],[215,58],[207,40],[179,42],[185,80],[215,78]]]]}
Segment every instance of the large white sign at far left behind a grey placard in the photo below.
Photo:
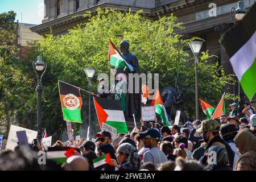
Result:
{"type": "Polygon", "coordinates": [[[36,136],[38,135],[37,131],[25,129],[24,127],[11,125],[8,139],[7,139],[7,144],[6,144],[6,148],[9,150],[14,150],[15,146],[17,145],[18,138],[16,135],[16,131],[26,131],[28,143],[32,143],[33,139],[36,139],[36,136]]]}

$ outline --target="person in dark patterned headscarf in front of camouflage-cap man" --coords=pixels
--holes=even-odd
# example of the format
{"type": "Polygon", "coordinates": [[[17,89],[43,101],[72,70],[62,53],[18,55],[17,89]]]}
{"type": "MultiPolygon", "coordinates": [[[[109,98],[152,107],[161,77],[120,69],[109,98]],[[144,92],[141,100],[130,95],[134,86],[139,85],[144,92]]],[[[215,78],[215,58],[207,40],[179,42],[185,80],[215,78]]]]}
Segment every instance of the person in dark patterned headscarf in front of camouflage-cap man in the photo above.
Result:
{"type": "Polygon", "coordinates": [[[232,167],[228,166],[228,152],[224,147],[210,146],[207,160],[207,171],[232,171],[232,167]]]}

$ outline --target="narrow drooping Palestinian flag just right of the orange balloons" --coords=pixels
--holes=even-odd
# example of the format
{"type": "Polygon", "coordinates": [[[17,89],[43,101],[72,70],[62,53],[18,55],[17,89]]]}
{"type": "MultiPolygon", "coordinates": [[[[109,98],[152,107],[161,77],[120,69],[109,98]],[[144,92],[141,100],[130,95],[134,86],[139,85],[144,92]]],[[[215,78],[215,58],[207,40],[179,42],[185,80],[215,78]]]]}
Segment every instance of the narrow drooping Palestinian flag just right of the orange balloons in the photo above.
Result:
{"type": "Polygon", "coordinates": [[[150,105],[155,106],[155,112],[160,115],[164,125],[171,126],[170,122],[168,120],[167,113],[166,113],[166,107],[164,107],[164,105],[163,105],[163,101],[162,101],[162,98],[161,98],[161,95],[160,95],[160,92],[158,89],[156,89],[154,98],[150,105]]]}

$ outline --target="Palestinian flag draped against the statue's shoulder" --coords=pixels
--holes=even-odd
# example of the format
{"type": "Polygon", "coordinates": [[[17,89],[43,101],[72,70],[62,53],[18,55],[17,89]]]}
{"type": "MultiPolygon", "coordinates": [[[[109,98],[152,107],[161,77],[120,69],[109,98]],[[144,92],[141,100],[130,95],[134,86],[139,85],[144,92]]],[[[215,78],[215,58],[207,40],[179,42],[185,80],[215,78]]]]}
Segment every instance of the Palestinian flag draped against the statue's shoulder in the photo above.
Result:
{"type": "Polygon", "coordinates": [[[134,68],[132,65],[128,64],[125,59],[119,53],[117,47],[109,39],[109,61],[110,65],[115,68],[125,68],[128,67],[130,71],[133,71],[134,68]]]}

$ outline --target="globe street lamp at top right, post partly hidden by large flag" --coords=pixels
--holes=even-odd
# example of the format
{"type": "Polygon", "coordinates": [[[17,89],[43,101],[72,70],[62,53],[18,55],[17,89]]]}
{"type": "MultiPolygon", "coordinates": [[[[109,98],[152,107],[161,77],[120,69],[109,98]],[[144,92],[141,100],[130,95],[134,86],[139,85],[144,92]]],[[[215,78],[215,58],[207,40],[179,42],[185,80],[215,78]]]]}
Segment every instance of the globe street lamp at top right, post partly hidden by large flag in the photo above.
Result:
{"type": "MultiPolygon", "coordinates": [[[[243,18],[243,16],[246,13],[246,9],[245,9],[245,2],[243,1],[238,1],[237,2],[237,9],[232,7],[232,9],[230,9],[230,16],[233,20],[233,23],[237,23],[237,21],[241,20],[243,18]],[[236,17],[236,19],[234,19],[234,16],[236,17]]],[[[243,95],[243,90],[241,88],[240,82],[238,82],[238,107],[237,107],[237,111],[238,111],[238,117],[241,118],[242,117],[242,110],[243,110],[243,104],[244,104],[244,95],[243,95]]]]}

